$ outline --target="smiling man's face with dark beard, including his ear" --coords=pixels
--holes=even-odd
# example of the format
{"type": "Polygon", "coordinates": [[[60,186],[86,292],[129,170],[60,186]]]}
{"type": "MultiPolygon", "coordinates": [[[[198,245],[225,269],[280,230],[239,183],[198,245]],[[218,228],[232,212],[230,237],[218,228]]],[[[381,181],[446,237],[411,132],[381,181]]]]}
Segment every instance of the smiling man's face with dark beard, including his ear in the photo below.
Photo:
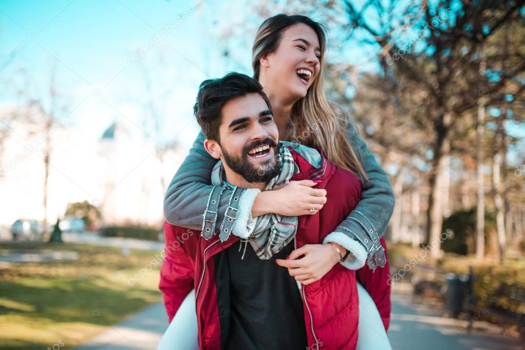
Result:
{"type": "Polygon", "coordinates": [[[224,104],[220,141],[209,141],[208,152],[250,183],[265,183],[281,171],[279,134],[274,117],[258,93],[224,104]]]}

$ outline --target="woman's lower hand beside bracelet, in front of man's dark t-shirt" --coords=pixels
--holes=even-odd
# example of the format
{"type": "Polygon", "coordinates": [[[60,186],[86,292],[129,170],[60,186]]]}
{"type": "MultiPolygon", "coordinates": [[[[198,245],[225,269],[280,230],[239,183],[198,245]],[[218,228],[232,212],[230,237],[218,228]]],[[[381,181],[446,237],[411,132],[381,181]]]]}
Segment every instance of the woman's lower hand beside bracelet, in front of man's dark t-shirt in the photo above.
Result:
{"type": "MultiPolygon", "coordinates": [[[[288,273],[295,277],[296,281],[308,285],[320,280],[341,259],[337,250],[330,246],[331,244],[304,245],[292,251],[286,260],[275,259],[275,262],[288,268],[288,273]],[[297,259],[302,255],[303,258],[297,259]]],[[[337,246],[344,256],[346,249],[337,246]]]]}

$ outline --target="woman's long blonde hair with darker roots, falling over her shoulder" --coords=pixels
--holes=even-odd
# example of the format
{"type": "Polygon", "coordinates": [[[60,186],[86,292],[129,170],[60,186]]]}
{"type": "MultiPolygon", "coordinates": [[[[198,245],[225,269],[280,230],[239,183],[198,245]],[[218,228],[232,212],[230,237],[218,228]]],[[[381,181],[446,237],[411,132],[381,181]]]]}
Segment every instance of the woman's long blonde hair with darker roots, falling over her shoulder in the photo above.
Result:
{"type": "Polygon", "coordinates": [[[306,96],[300,98],[292,107],[292,140],[316,147],[335,165],[366,179],[366,173],[346,134],[348,123],[351,123],[349,115],[337,104],[328,102],[324,96],[322,58],[326,39],[323,25],[306,16],[286,14],[279,14],[262,22],[252,49],[254,78],[259,80],[259,59],[277,50],[283,30],[299,23],[306,24],[316,32],[321,59],[318,78],[313,81],[306,96]]]}

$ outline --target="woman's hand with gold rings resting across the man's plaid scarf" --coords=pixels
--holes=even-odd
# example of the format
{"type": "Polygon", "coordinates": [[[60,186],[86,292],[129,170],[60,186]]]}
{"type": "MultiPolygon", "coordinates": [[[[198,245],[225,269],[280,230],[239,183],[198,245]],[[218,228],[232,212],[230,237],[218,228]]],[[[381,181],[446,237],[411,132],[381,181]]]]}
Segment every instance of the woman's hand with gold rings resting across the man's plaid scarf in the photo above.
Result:
{"type": "Polygon", "coordinates": [[[251,207],[251,216],[268,213],[284,216],[316,214],[327,203],[327,191],[318,188],[315,196],[312,196],[312,187],[315,185],[317,183],[312,180],[290,181],[285,187],[259,192],[251,207]]]}

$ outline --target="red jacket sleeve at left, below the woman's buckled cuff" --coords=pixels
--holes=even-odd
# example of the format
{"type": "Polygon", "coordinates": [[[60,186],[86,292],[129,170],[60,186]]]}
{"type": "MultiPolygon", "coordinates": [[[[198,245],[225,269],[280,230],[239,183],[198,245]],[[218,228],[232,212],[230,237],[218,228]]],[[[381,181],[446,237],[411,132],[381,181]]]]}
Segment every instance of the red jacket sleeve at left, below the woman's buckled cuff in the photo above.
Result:
{"type": "Polygon", "coordinates": [[[165,257],[162,261],[159,289],[163,294],[169,322],[194,288],[194,262],[177,241],[176,229],[177,226],[164,222],[165,257]]]}

